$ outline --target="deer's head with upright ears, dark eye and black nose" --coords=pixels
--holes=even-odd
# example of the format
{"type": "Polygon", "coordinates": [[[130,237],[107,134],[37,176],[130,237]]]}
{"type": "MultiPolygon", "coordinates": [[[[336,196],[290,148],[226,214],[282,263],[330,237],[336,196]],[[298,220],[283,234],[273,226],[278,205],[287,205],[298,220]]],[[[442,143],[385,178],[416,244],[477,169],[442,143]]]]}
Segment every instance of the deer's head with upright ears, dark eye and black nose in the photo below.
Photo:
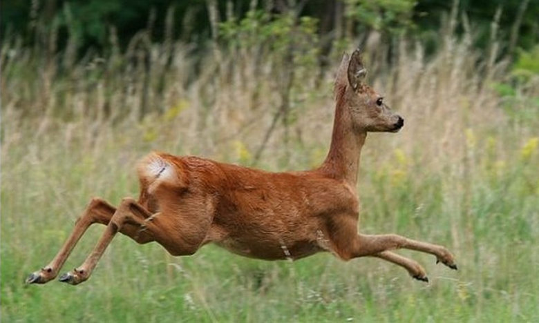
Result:
{"type": "Polygon", "coordinates": [[[359,132],[396,133],[404,126],[404,119],[393,113],[384,98],[365,83],[366,74],[359,50],[355,50],[351,57],[343,56],[335,81],[337,104],[348,109],[352,125],[359,132]]]}

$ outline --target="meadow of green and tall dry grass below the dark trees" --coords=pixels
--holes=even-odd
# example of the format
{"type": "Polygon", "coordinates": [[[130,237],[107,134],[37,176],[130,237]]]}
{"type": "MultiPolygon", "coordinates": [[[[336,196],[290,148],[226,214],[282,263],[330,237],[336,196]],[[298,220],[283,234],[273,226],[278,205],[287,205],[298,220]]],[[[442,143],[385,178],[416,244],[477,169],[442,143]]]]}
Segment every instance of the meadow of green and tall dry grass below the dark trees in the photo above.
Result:
{"type": "MultiPolygon", "coordinates": [[[[507,63],[445,32],[424,57],[400,42],[370,82],[406,119],[398,135],[369,135],[359,192],[365,233],[395,232],[444,244],[460,271],[402,251],[430,284],[379,260],[331,255],[299,262],[249,260],[207,246],[171,257],[116,237],[91,280],[25,286],[64,242],[91,196],[113,204],[138,193],[133,166],[149,150],[196,154],[267,170],[311,168],[329,146],[332,68],[292,64],[288,96],[275,52],[152,44],[81,61],[1,49],[1,319],[5,322],[497,321],[539,320],[538,79],[507,106],[493,84],[507,63]],[[278,121],[283,100],[289,119],[278,121]],[[277,120],[277,121],[275,121],[277,120]],[[274,125],[275,124],[275,125],[274,125]],[[273,125],[273,126],[272,126],[273,125]],[[262,149],[261,149],[262,148],[262,149]],[[260,151],[260,159],[256,159],[260,151]]],[[[494,44],[495,42],[493,42],[494,44]]],[[[381,46],[381,45],[379,45],[381,46]]],[[[247,48],[248,49],[248,48],[247,48]]],[[[383,46],[366,52],[384,50],[383,46]]],[[[378,66],[378,68],[377,68],[378,66]]],[[[290,66],[288,66],[290,67],[290,66]]],[[[91,228],[65,269],[79,265],[91,228]]]]}

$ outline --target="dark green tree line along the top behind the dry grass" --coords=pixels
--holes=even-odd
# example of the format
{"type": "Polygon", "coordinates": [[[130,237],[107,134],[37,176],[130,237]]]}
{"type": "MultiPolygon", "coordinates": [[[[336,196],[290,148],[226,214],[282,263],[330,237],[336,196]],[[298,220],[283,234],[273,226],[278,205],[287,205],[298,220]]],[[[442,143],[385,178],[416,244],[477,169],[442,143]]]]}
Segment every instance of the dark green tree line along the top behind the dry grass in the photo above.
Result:
{"type": "MultiPolygon", "coordinates": [[[[62,50],[70,35],[77,38],[80,52],[104,50],[111,33],[125,48],[140,30],[150,32],[152,41],[169,37],[204,43],[212,35],[209,7],[213,5],[218,8],[218,21],[242,19],[249,10],[276,15],[293,11],[316,19],[320,37],[379,30],[382,35],[413,33],[428,41],[436,37],[455,3],[459,21],[470,21],[477,46],[488,42],[493,21],[499,23],[498,36],[509,52],[531,48],[539,41],[539,0],[2,0],[0,35],[21,37],[35,45],[44,42],[39,35],[54,30],[56,48],[62,50]]],[[[457,32],[463,28],[458,26],[457,32]]]]}

